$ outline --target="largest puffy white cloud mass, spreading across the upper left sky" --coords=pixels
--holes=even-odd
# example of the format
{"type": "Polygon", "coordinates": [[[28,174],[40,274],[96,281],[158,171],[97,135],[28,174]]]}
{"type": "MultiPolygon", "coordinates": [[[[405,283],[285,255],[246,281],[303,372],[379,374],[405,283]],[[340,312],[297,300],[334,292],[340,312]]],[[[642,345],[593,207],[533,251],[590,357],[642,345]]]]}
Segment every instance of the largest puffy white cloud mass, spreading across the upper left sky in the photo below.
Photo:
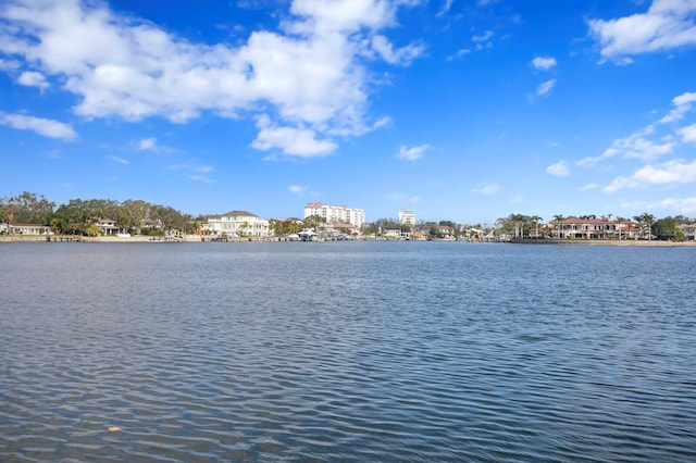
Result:
{"type": "Polygon", "coordinates": [[[186,123],[202,113],[273,114],[253,147],[324,155],[337,148],[327,137],[376,126],[368,115],[373,79],[364,60],[408,64],[423,52],[383,34],[412,3],[294,0],[277,30],[232,46],[192,42],[103,2],[16,0],[0,7],[0,53],[36,73],[21,77],[23,85],[40,87],[39,75],[61,83],[86,118],[186,123]]]}

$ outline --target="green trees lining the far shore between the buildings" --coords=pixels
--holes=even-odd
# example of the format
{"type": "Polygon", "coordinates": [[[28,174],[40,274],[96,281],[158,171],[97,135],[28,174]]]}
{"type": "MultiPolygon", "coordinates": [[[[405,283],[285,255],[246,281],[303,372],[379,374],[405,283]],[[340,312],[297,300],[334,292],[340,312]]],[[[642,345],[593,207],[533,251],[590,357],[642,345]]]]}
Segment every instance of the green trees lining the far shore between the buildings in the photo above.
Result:
{"type": "MultiPolygon", "coordinates": [[[[202,223],[212,215],[199,215],[197,217],[185,214],[171,207],[152,204],[144,200],[115,201],[110,199],[71,199],[67,203],[55,205],[42,195],[23,192],[22,195],[0,198],[0,223],[10,224],[40,224],[49,226],[55,234],[96,236],[100,233],[98,223],[110,220],[114,225],[127,233],[136,235],[162,235],[167,232],[196,233],[202,223]]],[[[577,215],[576,218],[597,218],[594,214],[577,215]]],[[[562,221],[563,215],[554,215],[552,221],[562,221]]],[[[648,236],[656,239],[681,241],[684,232],[682,224],[692,224],[696,218],[684,215],[656,218],[647,212],[632,217],[634,222],[625,217],[616,217],[618,222],[632,222],[644,230],[649,230],[648,236]]],[[[318,228],[325,224],[325,218],[310,216],[303,220],[271,218],[271,229],[275,236],[296,234],[304,228],[318,228]]],[[[538,215],[525,215],[521,213],[510,214],[496,221],[495,233],[515,238],[550,237],[552,227],[544,224],[538,215]]],[[[398,229],[403,233],[414,229],[424,230],[431,238],[443,238],[442,227],[450,227],[452,236],[458,238],[482,232],[481,224],[473,226],[460,225],[452,221],[419,222],[415,226],[401,224],[394,218],[378,218],[366,223],[361,230],[364,235],[380,235],[387,229],[398,229]]],[[[489,230],[486,230],[489,232],[489,230]]]]}

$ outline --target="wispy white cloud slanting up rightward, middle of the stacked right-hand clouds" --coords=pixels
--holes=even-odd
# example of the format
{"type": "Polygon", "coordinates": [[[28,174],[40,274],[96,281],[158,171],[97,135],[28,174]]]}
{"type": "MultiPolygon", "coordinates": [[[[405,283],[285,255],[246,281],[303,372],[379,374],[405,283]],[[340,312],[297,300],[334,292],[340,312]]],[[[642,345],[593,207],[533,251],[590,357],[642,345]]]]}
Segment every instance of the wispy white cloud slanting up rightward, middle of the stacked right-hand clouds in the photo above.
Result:
{"type": "Polygon", "coordinates": [[[671,137],[663,137],[660,142],[655,142],[646,137],[655,133],[651,125],[629,135],[625,138],[617,138],[601,155],[584,158],[577,162],[583,167],[593,167],[599,162],[621,155],[623,158],[635,158],[644,162],[654,161],[674,151],[676,142],[671,137]]]}

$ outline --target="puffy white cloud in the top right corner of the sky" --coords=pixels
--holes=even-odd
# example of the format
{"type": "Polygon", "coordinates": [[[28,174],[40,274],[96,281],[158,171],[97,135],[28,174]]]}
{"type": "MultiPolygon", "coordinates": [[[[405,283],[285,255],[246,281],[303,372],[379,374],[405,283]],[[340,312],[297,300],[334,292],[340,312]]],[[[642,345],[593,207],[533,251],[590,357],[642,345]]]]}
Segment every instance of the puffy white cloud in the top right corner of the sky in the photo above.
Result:
{"type": "Polygon", "coordinates": [[[695,12],[694,0],[654,0],[646,13],[589,21],[589,35],[599,42],[601,57],[611,60],[694,46],[695,12]]]}

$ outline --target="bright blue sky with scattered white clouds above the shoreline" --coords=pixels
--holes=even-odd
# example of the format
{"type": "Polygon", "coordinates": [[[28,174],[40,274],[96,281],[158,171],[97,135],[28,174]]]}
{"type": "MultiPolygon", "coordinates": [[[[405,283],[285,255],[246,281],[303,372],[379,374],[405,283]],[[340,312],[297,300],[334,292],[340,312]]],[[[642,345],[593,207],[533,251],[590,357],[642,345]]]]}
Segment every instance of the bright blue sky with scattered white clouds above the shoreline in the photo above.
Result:
{"type": "Polygon", "coordinates": [[[696,216],[696,0],[4,0],[0,196],[696,216]]]}

